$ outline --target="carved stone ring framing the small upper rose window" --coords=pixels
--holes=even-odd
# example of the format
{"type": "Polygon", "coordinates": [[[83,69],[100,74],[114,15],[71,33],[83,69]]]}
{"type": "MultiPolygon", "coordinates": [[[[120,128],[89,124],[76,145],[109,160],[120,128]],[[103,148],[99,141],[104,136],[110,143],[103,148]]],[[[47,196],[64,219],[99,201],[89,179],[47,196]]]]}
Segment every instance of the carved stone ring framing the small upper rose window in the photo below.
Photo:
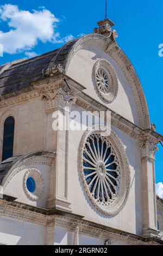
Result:
{"type": "Polygon", "coordinates": [[[93,66],[93,84],[96,88],[96,92],[101,99],[106,103],[112,103],[118,94],[118,78],[114,67],[106,59],[98,59],[93,66]],[[104,74],[108,78],[108,84],[110,90],[108,93],[103,93],[97,84],[97,72],[103,70],[104,74]]]}

